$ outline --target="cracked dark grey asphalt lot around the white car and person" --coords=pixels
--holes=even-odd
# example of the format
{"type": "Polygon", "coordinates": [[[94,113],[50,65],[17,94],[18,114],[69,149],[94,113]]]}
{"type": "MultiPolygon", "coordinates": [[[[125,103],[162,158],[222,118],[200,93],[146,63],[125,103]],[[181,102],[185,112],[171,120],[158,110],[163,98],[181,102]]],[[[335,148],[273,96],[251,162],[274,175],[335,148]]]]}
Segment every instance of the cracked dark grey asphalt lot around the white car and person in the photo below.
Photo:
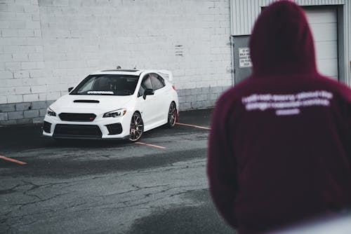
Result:
{"type": "MultiPolygon", "coordinates": [[[[180,113],[209,127],[211,109],[180,113]]],[[[41,126],[0,128],[0,233],[235,233],[206,179],[208,130],[145,132],[140,142],[55,142],[41,126]]]]}

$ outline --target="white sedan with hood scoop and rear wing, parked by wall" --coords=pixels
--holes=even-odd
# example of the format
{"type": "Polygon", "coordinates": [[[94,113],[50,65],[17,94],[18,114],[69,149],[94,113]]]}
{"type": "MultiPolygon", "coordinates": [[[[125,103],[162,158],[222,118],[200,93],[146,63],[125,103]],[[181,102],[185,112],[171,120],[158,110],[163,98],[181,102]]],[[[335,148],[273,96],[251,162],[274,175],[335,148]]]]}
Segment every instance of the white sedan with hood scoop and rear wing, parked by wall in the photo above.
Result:
{"type": "Polygon", "coordinates": [[[167,70],[112,69],[90,74],[46,111],[43,135],[55,139],[128,139],[178,119],[167,70]]]}

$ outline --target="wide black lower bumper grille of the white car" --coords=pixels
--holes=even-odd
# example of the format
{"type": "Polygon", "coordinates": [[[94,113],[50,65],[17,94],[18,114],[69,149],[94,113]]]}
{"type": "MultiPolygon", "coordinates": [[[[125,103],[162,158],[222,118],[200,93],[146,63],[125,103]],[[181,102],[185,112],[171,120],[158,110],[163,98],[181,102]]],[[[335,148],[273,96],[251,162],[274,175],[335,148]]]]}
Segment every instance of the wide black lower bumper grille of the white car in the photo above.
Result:
{"type": "Polygon", "coordinates": [[[55,126],[53,137],[101,138],[98,125],[58,124],[55,126]]]}

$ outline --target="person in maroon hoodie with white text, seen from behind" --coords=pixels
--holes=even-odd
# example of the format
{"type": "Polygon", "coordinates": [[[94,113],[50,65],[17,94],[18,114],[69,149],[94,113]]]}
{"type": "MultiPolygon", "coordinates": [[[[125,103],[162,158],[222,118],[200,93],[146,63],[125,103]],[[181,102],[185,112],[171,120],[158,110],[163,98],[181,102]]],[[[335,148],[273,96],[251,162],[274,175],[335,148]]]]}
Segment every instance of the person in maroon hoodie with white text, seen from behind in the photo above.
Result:
{"type": "Polygon", "coordinates": [[[263,233],[351,205],[351,90],[319,74],[300,6],[265,8],[249,41],[253,72],[213,111],[213,202],[242,233],[263,233]]]}

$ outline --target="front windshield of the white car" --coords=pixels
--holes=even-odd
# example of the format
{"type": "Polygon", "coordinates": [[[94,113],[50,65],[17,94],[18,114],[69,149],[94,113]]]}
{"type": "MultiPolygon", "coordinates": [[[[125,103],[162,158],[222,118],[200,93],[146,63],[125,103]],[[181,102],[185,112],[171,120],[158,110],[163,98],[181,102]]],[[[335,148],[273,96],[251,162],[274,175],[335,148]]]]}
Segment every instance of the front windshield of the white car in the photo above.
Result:
{"type": "Polygon", "coordinates": [[[139,76],[90,75],[70,95],[133,95],[139,76]]]}

